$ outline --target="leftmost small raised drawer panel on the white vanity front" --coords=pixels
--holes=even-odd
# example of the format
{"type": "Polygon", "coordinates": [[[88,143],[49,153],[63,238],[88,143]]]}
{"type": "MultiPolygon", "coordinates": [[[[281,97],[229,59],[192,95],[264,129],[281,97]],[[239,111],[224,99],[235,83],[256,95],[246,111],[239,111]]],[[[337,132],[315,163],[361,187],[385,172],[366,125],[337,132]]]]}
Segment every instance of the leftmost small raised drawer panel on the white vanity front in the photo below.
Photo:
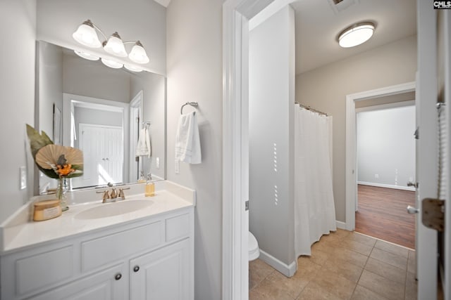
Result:
{"type": "Polygon", "coordinates": [[[73,276],[73,246],[18,259],[16,293],[23,295],[73,276]]]}

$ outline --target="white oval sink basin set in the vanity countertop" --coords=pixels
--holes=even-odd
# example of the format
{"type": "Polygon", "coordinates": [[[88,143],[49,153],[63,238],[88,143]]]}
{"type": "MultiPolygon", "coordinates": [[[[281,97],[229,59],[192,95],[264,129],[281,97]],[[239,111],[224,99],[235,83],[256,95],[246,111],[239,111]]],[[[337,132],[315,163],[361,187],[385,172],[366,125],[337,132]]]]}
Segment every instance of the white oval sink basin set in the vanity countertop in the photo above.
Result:
{"type": "Polygon", "coordinates": [[[144,209],[153,203],[152,200],[118,200],[118,202],[105,203],[98,207],[81,211],[76,214],[74,218],[89,220],[107,218],[109,216],[119,216],[121,214],[128,214],[133,211],[144,209]]]}

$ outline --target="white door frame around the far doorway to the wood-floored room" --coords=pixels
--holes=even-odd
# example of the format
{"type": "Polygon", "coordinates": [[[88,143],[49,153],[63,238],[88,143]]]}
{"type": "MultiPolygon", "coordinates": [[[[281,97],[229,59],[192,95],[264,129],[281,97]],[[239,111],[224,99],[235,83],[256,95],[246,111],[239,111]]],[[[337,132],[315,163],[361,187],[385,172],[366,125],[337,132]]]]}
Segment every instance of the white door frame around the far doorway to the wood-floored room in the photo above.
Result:
{"type": "Polygon", "coordinates": [[[355,209],[357,206],[357,145],[356,145],[356,112],[355,103],[361,100],[392,96],[415,91],[415,81],[405,84],[385,86],[381,89],[352,93],[346,96],[346,163],[345,163],[345,195],[346,220],[345,228],[355,229],[355,209]]]}

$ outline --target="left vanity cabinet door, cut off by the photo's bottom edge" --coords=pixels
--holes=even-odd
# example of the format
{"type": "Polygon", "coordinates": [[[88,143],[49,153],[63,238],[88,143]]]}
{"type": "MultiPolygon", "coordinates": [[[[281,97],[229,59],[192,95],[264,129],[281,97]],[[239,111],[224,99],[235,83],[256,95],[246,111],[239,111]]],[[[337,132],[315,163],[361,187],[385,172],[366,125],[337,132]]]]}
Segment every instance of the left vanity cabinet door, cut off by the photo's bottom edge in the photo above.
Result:
{"type": "Polygon", "coordinates": [[[49,292],[39,294],[33,300],[94,300],[126,299],[128,270],[124,264],[108,268],[80,280],[70,282],[49,292]]]}

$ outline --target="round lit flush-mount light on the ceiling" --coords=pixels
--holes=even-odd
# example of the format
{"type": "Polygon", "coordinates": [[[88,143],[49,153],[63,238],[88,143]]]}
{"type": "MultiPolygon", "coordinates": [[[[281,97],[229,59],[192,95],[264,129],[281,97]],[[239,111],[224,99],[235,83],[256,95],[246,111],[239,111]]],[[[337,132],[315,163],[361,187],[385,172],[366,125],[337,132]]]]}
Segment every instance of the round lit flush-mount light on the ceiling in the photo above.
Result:
{"type": "Polygon", "coordinates": [[[343,48],[350,48],[368,41],[373,36],[376,25],[373,22],[359,22],[338,34],[338,44],[343,48]]]}

